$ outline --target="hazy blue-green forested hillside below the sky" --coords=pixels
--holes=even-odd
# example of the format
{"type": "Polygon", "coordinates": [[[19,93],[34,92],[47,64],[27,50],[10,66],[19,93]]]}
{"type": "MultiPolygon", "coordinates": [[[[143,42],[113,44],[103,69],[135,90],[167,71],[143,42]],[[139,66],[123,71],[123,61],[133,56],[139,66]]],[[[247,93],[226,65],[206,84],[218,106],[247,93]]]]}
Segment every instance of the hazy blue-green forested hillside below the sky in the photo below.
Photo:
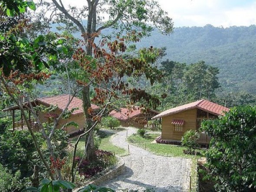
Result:
{"type": "Polygon", "coordinates": [[[177,62],[200,60],[220,69],[220,83],[226,91],[256,94],[256,26],[220,28],[176,28],[170,36],[151,33],[138,47],[166,47],[166,57],[177,62]]]}

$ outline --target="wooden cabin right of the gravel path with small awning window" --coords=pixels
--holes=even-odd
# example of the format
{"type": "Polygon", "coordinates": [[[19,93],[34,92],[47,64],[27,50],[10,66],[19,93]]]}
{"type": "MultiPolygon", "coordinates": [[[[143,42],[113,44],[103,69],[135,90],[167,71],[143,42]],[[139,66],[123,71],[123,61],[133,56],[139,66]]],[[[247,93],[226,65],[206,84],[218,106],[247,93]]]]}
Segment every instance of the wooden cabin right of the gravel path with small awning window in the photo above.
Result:
{"type": "MultiPolygon", "coordinates": [[[[203,99],[168,109],[152,119],[162,119],[161,140],[180,142],[187,130],[199,130],[202,120],[217,118],[227,111],[229,108],[203,99]]],[[[201,132],[198,143],[209,142],[207,133],[201,132]]]]}

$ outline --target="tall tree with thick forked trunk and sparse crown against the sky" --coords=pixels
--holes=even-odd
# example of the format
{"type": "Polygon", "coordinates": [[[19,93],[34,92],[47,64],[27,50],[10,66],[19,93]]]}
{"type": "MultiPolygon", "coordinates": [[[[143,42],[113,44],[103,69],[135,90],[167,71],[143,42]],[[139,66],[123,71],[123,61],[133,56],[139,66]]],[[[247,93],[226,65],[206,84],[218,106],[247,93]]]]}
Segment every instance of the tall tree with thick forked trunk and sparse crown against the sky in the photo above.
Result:
{"type": "MultiPolygon", "coordinates": [[[[148,25],[148,22],[154,24],[154,27],[162,33],[169,34],[173,31],[173,23],[167,13],[161,10],[158,3],[153,0],[87,0],[87,5],[81,9],[71,7],[66,9],[62,0],[52,0],[53,4],[45,3],[46,9],[52,11],[49,20],[55,20],[58,23],[65,23],[66,29],[76,29],[81,33],[85,44],[85,54],[92,56],[92,45],[95,37],[103,29],[109,27],[118,29],[118,36],[123,32],[130,33],[129,40],[139,40],[141,36],[147,35],[154,28],[148,25]],[[109,19],[103,21],[103,15],[108,14],[109,19]],[[82,21],[86,18],[86,26],[82,21]]],[[[106,36],[108,37],[108,36],[106,36]]],[[[128,39],[127,39],[128,40],[128,39]]],[[[83,108],[86,118],[86,129],[89,130],[93,123],[88,110],[91,106],[90,86],[85,85],[82,90],[83,108]]],[[[95,146],[93,142],[93,130],[87,136],[86,158],[92,160],[95,157],[95,146]]]]}

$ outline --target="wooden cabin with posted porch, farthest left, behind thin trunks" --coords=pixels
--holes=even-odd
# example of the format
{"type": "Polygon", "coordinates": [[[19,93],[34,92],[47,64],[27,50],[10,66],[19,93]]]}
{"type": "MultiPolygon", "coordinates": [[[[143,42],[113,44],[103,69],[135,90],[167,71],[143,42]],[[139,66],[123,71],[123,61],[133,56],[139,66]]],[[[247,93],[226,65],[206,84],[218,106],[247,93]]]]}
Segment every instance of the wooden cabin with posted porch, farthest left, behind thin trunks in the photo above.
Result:
{"type": "MultiPolygon", "coordinates": [[[[36,109],[36,106],[43,105],[46,107],[49,107],[50,105],[57,106],[56,111],[50,112],[50,113],[43,113],[40,111],[36,111],[37,116],[39,117],[39,120],[41,123],[51,122],[54,120],[54,118],[59,117],[61,112],[65,109],[66,105],[69,102],[69,95],[63,94],[63,95],[57,95],[52,97],[44,97],[44,98],[37,98],[34,101],[31,102],[34,109],[36,109]]],[[[23,108],[27,108],[27,117],[30,121],[30,124],[35,131],[39,131],[38,121],[32,116],[31,112],[28,110],[28,104],[24,103],[23,108]]],[[[99,109],[98,106],[95,104],[92,104],[92,109],[97,111],[99,109]]],[[[71,134],[75,131],[78,131],[78,129],[82,130],[85,125],[85,117],[83,112],[83,102],[81,99],[74,97],[69,104],[68,110],[71,110],[72,108],[77,107],[78,109],[73,111],[69,118],[67,119],[61,119],[59,120],[59,124],[57,125],[57,128],[62,128],[63,125],[65,125],[68,122],[74,121],[76,124],[79,125],[79,127],[75,126],[69,126],[66,127],[67,133],[71,134]]],[[[14,130],[24,130],[27,129],[26,122],[24,121],[23,115],[20,113],[20,108],[18,106],[9,107],[7,109],[4,109],[3,111],[10,111],[13,117],[13,131],[14,130]],[[19,118],[19,120],[17,120],[19,118]]]]}

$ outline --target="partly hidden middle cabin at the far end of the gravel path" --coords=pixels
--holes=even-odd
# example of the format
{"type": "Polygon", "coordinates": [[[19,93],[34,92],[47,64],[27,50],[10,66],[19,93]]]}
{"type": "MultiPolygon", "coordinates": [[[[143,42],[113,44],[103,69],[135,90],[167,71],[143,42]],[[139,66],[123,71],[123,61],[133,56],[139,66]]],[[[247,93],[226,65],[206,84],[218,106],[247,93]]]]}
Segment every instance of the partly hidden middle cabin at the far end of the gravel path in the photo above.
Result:
{"type": "Polygon", "coordinates": [[[158,111],[144,111],[141,107],[135,106],[132,109],[120,108],[119,111],[113,110],[109,115],[117,118],[122,127],[144,128],[148,120],[151,120],[157,114],[159,114],[158,111]]]}

